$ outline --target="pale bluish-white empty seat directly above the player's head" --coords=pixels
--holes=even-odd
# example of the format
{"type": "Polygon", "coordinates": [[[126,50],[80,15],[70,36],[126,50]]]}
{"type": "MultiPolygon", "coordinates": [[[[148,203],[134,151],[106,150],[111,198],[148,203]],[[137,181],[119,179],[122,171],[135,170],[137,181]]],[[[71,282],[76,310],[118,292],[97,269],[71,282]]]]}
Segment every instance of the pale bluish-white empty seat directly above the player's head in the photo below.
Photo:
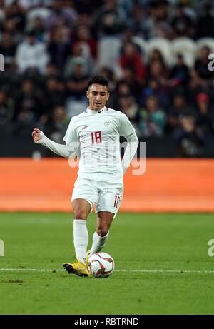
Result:
{"type": "Polygon", "coordinates": [[[121,40],[115,37],[105,37],[98,41],[98,68],[113,69],[118,63],[121,40]]]}

